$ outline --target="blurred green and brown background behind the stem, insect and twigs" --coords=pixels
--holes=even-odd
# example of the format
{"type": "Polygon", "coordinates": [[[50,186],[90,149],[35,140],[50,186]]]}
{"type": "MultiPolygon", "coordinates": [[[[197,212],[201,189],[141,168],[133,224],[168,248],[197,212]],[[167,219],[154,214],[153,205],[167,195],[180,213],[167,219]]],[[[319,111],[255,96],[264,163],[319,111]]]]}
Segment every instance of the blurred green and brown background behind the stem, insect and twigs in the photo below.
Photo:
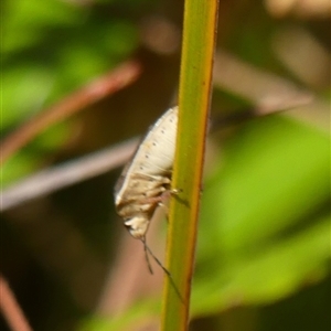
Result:
{"type": "MultiPolygon", "coordinates": [[[[142,65],[132,85],[10,158],[2,190],[143,134],[175,100],[182,17],[173,0],[2,1],[2,138],[122,62],[142,65]]],[[[268,99],[292,88],[314,100],[291,107],[290,94],[288,111],[213,127],[192,331],[330,330],[329,28],[329,1],[220,3],[212,124],[263,107],[261,74],[268,99]]],[[[1,273],[33,330],[157,330],[162,273],[148,274],[115,214],[119,172],[1,214],[1,273]]],[[[149,235],[158,256],[163,223],[149,235]]]]}

